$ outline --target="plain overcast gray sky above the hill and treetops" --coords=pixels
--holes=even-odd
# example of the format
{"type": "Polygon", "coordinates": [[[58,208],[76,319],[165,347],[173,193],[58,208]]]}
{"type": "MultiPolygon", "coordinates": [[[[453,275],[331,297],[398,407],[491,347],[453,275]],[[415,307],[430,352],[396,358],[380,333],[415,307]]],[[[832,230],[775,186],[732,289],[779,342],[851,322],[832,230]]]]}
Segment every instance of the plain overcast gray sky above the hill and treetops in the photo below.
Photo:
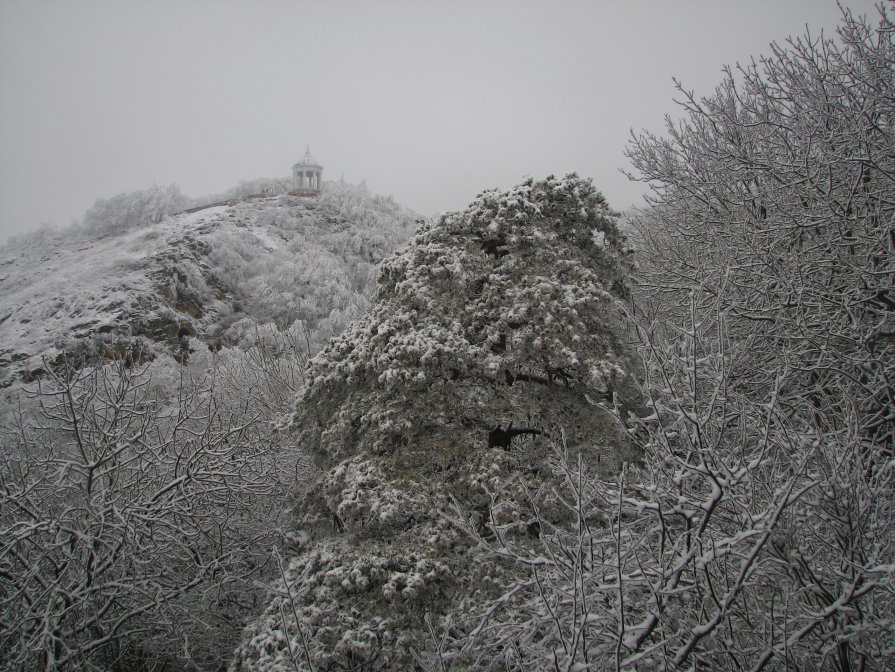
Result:
{"type": "MultiPolygon", "coordinates": [[[[846,0],[873,13],[872,0],[846,0]]],[[[0,0],[0,239],[97,198],[291,173],[366,179],[424,215],[576,171],[616,209],[630,129],[672,77],[832,30],[834,0],[0,0]]]]}

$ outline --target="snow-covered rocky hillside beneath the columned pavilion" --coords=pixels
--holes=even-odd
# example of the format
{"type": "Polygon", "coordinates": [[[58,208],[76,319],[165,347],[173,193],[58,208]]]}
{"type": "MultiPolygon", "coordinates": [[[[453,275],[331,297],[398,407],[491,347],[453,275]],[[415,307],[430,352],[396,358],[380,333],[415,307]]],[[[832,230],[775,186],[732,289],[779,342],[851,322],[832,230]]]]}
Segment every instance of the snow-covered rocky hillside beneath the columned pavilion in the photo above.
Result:
{"type": "Polygon", "coordinates": [[[233,200],[112,231],[70,229],[0,248],[0,386],[63,361],[144,359],[240,344],[298,323],[311,349],[364,311],[375,265],[416,216],[344,183],[319,198],[233,200]]]}

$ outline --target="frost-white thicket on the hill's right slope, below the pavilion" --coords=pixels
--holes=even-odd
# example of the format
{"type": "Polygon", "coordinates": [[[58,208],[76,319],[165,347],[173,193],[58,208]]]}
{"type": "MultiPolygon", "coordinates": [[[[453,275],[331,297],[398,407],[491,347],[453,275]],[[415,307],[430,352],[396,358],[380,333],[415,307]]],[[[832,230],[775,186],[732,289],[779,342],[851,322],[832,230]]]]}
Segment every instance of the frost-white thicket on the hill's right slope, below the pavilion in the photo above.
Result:
{"type": "MultiPolygon", "coordinates": [[[[326,320],[338,331],[369,309],[375,265],[411,235],[416,217],[341,183],[327,183],[320,202],[305,205],[294,208],[286,199],[260,214],[251,203],[235,206],[232,216],[252,226],[237,236],[212,233],[209,259],[220,283],[260,321],[286,330],[297,320],[326,320]],[[275,242],[258,244],[262,226],[275,242]]],[[[318,339],[317,349],[328,337],[318,339]]]]}

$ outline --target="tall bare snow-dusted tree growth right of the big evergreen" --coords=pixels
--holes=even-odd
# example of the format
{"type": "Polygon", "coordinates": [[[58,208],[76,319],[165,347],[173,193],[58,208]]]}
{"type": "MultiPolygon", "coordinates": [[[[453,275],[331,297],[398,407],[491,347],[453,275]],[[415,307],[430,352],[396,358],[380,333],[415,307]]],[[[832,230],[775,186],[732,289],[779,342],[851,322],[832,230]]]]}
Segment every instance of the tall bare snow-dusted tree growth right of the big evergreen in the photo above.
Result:
{"type": "Polygon", "coordinates": [[[893,30],[846,11],[633,138],[642,463],[613,482],[559,450],[571,522],[466,526],[530,579],[441,663],[895,666],[893,30]]]}

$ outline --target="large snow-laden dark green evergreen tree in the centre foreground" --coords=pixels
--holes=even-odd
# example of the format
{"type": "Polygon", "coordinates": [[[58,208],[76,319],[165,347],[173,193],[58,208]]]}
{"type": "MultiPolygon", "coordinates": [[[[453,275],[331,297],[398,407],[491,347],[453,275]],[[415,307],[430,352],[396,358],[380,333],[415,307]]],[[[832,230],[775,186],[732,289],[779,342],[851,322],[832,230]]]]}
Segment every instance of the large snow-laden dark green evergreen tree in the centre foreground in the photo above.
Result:
{"type": "Polygon", "coordinates": [[[309,366],[289,424],[321,475],[234,669],[434,661],[438,633],[519,571],[446,514],[534,544],[536,521],[567,515],[557,442],[603,473],[636,458],[615,420],[635,403],[626,257],[602,195],[569,175],[486,191],[384,264],[371,313],[309,366]]]}

